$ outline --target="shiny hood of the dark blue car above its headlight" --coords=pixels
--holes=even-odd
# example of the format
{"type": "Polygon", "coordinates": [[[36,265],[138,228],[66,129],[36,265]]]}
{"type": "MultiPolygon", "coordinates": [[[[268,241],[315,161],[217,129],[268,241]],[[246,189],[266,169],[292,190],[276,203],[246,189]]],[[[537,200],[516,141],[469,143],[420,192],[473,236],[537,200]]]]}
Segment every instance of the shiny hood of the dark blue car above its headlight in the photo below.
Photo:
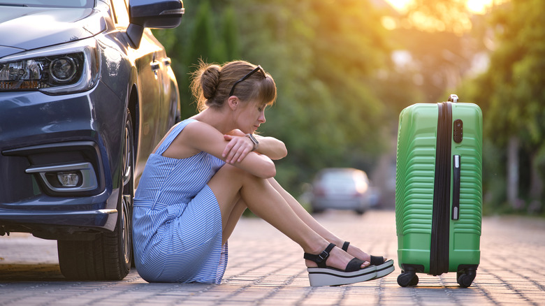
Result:
{"type": "Polygon", "coordinates": [[[106,29],[93,8],[24,8],[2,6],[0,58],[25,50],[78,41],[106,29]]]}

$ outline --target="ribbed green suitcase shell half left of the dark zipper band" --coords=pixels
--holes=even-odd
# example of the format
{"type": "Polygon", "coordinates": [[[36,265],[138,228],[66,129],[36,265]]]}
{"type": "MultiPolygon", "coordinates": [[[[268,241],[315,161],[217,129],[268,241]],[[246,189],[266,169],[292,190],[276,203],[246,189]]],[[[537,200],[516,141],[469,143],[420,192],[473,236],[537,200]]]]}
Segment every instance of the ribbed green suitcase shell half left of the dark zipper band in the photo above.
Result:
{"type": "Polygon", "coordinates": [[[398,130],[395,214],[398,263],[429,269],[433,214],[437,105],[418,103],[402,111],[398,130]],[[403,128],[402,128],[403,127],[403,128]],[[409,128],[409,129],[407,129],[409,128]]]}

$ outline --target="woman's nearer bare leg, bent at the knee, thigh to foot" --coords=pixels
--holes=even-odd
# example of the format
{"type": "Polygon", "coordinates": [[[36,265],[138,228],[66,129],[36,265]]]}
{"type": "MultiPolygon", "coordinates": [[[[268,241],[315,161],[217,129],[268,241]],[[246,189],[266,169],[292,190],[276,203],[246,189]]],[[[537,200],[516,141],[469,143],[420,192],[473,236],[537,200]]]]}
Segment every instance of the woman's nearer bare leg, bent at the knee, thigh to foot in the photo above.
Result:
{"type": "MultiPolygon", "coordinates": [[[[240,217],[242,214],[238,205],[245,203],[254,214],[297,242],[304,252],[319,254],[329,244],[298,217],[268,180],[226,164],[212,177],[208,186],[217,198],[223,228],[226,231],[232,231],[233,217],[237,215],[240,217]],[[242,199],[242,202],[239,199],[242,199]]],[[[330,252],[328,266],[344,270],[351,258],[353,257],[342,249],[335,247],[330,252]]],[[[307,261],[308,266],[313,264],[307,261]]]]}

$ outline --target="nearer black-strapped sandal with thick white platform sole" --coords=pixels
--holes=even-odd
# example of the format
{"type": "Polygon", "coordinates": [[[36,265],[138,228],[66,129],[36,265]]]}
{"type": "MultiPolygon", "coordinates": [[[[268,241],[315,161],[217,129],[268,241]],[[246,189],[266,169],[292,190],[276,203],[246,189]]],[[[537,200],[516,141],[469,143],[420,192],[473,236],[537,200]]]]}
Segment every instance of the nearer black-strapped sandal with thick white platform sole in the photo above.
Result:
{"type": "Polygon", "coordinates": [[[374,279],[377,276],[377,268],[369,266],[361,268],[363,261],[358,258],[352,258],[344,270],[329,268],[326,265],[329,253],[335,247],[330,243],[324,251],[318,255],[305,253],[305,259],[314,261],[318,264],[318,268],[307,268],[308,279],[310,286],[340,286],[346,284],[354,284],[357,282],[365,282],[369,279],[374,279]]]}

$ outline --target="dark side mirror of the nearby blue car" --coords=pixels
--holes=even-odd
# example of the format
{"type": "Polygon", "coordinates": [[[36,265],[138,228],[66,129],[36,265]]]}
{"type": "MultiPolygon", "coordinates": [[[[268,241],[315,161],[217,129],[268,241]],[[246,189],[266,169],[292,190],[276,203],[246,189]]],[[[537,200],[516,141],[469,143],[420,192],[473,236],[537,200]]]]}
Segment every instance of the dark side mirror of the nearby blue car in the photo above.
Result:
{"type": "Polygon", "coordinates": [[[140,46],[144,28],[172,29],[184,15],[182,0],[129,0],[129,36],[133,48],[140,46]]]}

